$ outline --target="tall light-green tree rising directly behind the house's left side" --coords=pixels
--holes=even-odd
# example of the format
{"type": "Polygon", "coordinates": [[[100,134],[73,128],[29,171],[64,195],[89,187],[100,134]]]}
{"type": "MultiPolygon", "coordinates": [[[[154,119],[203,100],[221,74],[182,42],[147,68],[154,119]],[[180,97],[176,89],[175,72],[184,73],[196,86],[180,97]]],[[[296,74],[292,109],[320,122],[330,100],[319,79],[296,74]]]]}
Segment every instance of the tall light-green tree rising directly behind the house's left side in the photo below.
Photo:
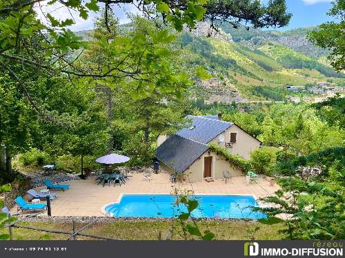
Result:
{"type": "Polygon", "coordinates": [[[157,28],[151,21],[133,17],[132,23],[120,30],[115,17],[108,18],[108,28],[103,18],[96,21],[96,29],[90,35],[88,50],[81,56],[80,63],[88,70],[107,69],[119,63],[121,69],[135,67],[144,74],[142,77],[133,74],[129,78],[101,78],[94,84],[97,91],[108,89],[112,102],[112,107],[108,107],[112,114],[110,131],[118,131],[115,127],[122,127],[126,122],[130,128],[125,131],[143,131],[144,142],[148,144],[150,133],[171,132],[177,125],[181,126],[190,77],[203,74],[201,69],[188,74],[181,68],[183,62],[175,34],[166,28],[157,28]],[[123,44],[119,47],[115,41],[123,44]]]}

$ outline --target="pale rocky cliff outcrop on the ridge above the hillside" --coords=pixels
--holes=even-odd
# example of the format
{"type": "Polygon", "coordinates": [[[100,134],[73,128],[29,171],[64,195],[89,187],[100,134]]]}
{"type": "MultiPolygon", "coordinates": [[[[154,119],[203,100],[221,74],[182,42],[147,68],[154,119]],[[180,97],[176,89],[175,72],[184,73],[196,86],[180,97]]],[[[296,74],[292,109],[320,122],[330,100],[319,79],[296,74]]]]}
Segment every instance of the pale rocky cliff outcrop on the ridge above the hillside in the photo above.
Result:
{"type": "MultiPolygon", "coordinates": [[[[187,27],[184,27],[184,30],[189,31],[187,27]]],[[[210,28],[210,23],[206,21],[200,21],[199,23],[197,23],[196,28],[190,30],[190,34],[192,34],[193,36],[208,36],[220,41],[233,42],[233,37],[231,36],[231,34],[224,32],[223,30],[221,30],[221,28],[219,28],[219,32],[216,32],[215,30],[210,28]]]]}

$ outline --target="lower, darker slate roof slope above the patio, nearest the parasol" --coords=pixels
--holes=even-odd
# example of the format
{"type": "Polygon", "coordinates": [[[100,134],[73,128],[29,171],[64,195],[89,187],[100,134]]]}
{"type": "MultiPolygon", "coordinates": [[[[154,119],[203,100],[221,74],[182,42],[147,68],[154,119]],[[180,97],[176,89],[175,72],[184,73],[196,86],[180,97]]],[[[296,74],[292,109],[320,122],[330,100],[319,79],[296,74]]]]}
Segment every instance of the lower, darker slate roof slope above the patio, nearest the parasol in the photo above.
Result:
{"type": "Polygon", "coordinates": [[[181,136],[171,136],[157,148],[157,158],[177,173],[182,173],[193,164],[208,145],[181,136]]]}

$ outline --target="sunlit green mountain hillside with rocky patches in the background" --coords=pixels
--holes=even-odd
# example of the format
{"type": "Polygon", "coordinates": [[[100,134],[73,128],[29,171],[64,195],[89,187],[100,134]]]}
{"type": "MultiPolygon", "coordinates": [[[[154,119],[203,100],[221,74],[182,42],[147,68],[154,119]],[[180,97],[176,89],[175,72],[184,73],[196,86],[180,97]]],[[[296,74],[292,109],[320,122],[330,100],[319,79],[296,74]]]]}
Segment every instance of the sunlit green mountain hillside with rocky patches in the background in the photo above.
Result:
{"type": "MultiPolygon", "coordinates": [[[[122,30],[130,25],[121,25],[122,30]]],[[[125,29],[125,30],[127,30],[125,29]]],[[[286,85],[345,85],[344,74],[327,65],[327,50],[308,42],[314,28],[278,32],[220,25],[216,34],[206,22],[179,34],[188,67],[203,66],[213,78],[197,82],[191,96],[206,103],[285,100],[286,85]]],[[[77,32],[88,40],[87,32],[77,32]]],[[[187,68],[188,68],[187,67],[187,68]]]]}

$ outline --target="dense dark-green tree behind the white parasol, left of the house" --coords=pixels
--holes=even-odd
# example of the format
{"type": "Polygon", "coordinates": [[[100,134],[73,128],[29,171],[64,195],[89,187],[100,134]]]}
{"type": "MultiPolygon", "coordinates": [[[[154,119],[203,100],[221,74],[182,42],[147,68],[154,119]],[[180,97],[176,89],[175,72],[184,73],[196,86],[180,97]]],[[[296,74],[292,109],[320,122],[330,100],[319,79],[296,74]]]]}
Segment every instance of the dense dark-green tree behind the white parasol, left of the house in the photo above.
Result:
{"type": "MultiPolygon", "coordinates": [[[[66,78],[42,78],[35,96],[45,95],[49,100],[46,109],[65,125],[54,123],[40,125],[46,133],[41,148],[52,156],[81,156],[81,173],[84,155],[103,155],[108,145],[108,119],[106,110],[97,100],[89,80],[70,82],[66,78]]],[[[39,146],[39,142],[35,142],[39,146]]]]}

